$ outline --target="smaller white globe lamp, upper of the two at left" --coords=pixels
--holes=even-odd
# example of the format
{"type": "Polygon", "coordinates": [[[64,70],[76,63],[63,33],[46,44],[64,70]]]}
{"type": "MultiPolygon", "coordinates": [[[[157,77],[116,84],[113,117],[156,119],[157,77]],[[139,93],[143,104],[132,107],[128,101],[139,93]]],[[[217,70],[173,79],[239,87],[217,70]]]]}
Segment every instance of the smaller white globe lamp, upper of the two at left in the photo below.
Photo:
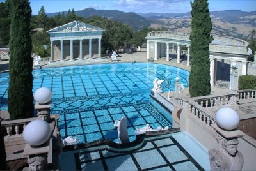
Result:
{"type": "Polygon", "coordinates": [[[37,89],[34,94],[34,99],[39,104],[48,103],[52,98],[52,92],[46,87],[41,87],[37,89]]]}

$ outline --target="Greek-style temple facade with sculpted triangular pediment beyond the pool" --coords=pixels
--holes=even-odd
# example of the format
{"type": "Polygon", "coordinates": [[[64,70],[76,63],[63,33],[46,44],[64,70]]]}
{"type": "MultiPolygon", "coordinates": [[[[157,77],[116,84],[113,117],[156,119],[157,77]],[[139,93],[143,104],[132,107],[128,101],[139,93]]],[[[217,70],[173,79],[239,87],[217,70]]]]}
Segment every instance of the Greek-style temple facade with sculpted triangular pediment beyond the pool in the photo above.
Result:
{"type": "Polygon", "coordinates": [[[101,58],[101,38],[104,29],[73,21],[47,31],[50,34],[51,58],[61,62],[74,59],[101,58]]]}

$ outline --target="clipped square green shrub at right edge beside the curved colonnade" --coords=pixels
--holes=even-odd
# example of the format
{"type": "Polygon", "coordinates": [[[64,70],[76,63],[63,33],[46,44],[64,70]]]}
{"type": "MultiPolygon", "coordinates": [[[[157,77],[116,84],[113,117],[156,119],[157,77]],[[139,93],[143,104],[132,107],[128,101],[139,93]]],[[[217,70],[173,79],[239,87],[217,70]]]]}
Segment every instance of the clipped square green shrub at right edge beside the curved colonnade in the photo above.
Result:
{"type": "Polygon", "coordinates": [[[254,75],[241,75],[239,76],[238,89],[255,89],[256,88],[256,76],[254,75]]]}

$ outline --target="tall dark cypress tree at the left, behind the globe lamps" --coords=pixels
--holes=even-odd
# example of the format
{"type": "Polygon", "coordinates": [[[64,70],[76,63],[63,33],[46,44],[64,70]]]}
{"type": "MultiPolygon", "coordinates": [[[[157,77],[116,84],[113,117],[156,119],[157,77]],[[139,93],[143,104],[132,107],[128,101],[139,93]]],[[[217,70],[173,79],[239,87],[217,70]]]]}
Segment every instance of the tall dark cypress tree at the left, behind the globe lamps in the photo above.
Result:
{"type": "Polygon", "coordinates": [[[31,8],[28,0],[10,0],[8,112],[11,119],[33,117],[31,8]]]}

